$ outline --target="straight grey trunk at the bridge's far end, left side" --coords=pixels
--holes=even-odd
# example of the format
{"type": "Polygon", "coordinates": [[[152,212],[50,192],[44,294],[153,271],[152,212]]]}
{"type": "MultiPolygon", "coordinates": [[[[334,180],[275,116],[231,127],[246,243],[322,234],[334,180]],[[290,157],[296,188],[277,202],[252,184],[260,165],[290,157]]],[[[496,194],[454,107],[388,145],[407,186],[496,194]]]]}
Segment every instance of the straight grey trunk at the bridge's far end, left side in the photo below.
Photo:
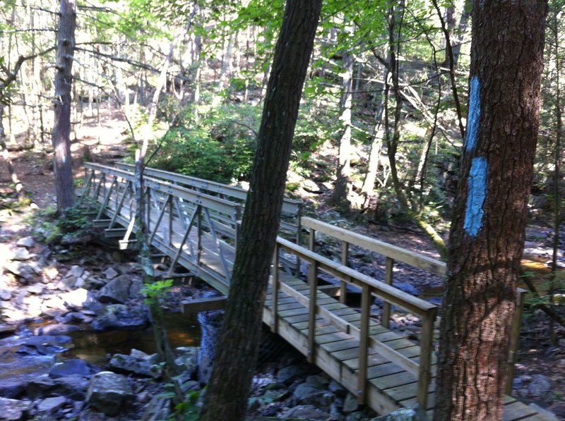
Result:
{"type": "Polygon", "coordinates": [[[59,212],[73,205],[73,163],[71,161],[71,86],[75,47],[76,0],[61,0],[57,63],[55,73],[55,105],[53,150],[55,190],[59,212]]]}

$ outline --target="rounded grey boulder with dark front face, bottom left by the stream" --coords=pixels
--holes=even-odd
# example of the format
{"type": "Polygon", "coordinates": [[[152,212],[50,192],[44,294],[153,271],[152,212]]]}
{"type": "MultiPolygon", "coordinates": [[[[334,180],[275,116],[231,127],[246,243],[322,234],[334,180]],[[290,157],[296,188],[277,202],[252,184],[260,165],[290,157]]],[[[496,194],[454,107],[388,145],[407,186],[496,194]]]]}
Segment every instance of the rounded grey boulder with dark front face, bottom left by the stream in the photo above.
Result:
{"type": "Polygon", "coordinates": [[[133,390],[126,377],[112,372],[93,376],[86,393],[88,403],[110,417],[118,415],[133,398],[133,390]]]}

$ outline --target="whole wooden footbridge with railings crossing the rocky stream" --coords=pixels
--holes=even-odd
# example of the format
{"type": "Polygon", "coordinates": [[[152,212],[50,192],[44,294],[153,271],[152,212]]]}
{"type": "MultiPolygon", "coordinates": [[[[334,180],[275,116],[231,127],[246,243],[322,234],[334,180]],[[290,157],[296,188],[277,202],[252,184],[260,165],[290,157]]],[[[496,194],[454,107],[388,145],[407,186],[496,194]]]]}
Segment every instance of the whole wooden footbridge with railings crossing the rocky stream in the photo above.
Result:
{"type": "MultiPolygon", "coordinates": [[[[121,247],[127,248],[136,241],[133,168],[126,164],[85,167],[83,204],[97,209],[95,226],[104,228],[107,236],[119,238],[121,247]]],[[[146,169],[144,194],[150,243],[169,258],[165,275],[188,271],[227,295],[246,191],[146,169]]],[[[393,273],[401,262],[444,276],[445,264],[302,217],[301,202],[295,200],[285,200],[281,221],[263,322],[377,413],[416,404],[431,413],[437,308],[395,288],[393,273]],[[309,231],[307,247],[300,245],[303,230],[309,231]],[[316,234],[341,245],[340,262],[316,253],[316,234]],[[386,257],[383,279],[348,267],[352,247],[386,257]],[[321,279],[333,282],[324,285],[321,279]],[[347,305],[347,294],[352,290],[360,294],[360,309],[347,305]],[[375,298],[383,301],[380,317],[371,314],[375,298]],[[390,329],[391,306],[420,319],[417,341],[390,329]]],[[[511,391],[520,317],[516,315],[511,338],[507,393],[511,391]]],[[[505,403],[505,421],[547,419],[510,396],[505,403]]]]}

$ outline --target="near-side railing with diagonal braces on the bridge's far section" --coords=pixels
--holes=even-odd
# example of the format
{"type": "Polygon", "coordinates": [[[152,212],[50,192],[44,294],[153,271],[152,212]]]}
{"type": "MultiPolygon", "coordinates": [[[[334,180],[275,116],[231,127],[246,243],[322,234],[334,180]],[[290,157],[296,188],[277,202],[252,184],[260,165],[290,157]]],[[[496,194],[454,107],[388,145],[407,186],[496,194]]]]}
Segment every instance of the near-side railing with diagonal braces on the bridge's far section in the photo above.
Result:
{"type": "MultiPolygon", "coordinates": [[[[135,241],[131,240],[137,212],[134,174],[90,163],[85,169],[81,200],[99,207],[95,226],[104,227],[108,236],[122,237],[120,245],[126,248],[135,241]]],[[[237,247],[241,205],[148,176],[144,181],[149,241],[172,258],[168,276],[182,264],[225,293],[237,247]]]]}

